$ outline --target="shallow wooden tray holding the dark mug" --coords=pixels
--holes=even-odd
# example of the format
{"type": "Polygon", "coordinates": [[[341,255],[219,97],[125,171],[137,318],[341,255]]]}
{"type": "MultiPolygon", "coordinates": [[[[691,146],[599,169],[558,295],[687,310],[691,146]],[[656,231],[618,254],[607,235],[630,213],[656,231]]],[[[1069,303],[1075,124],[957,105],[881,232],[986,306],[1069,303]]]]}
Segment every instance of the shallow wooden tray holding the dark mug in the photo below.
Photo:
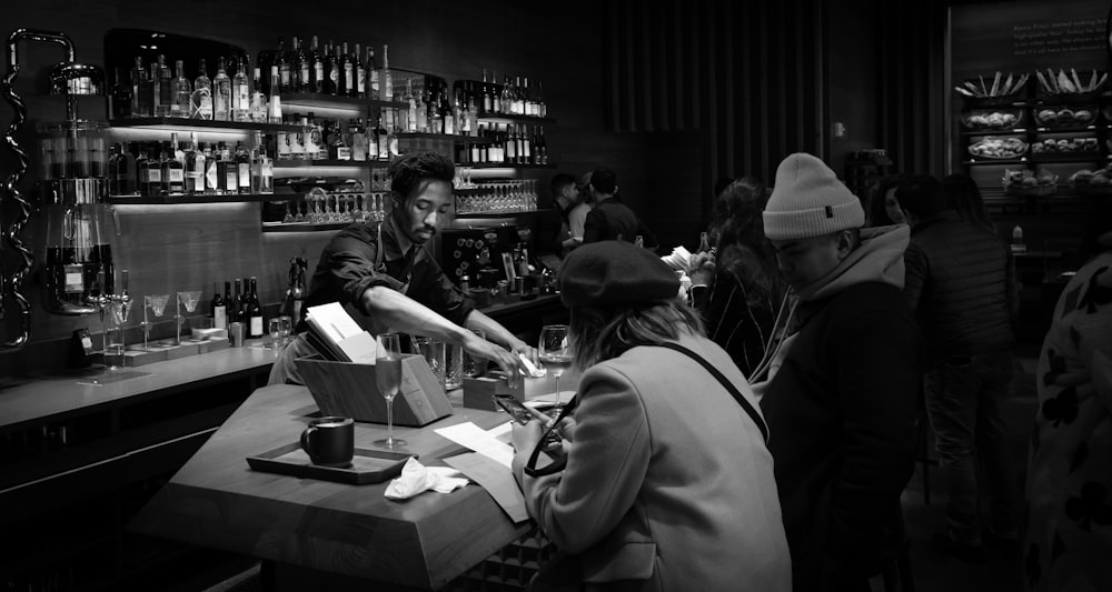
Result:
{"type": "Polygon", "coordinates": [[[321,466],[312,464],[309,455],[301,450],[301,444],[294,442],[256,456],[248,456],[247,464],[256,471],[268,473],[366,485],[380,483],[401,474],[401,468],[410,456],[417,458],[417,454],[357,448],[351,464],[347,468],[321,466]]]}

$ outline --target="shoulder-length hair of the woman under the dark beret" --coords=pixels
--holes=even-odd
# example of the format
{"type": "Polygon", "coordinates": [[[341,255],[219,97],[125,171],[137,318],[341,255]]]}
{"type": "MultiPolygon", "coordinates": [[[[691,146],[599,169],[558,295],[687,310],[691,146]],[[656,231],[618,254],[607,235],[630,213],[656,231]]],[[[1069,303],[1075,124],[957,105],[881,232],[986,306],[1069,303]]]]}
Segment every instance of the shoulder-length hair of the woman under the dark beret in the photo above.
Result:
{"type": "Polygon", "coordinates": [[[677,300],[624,307],[575,307],[568,339],[580,371],[617,358],[637,345],[674,341],[679,333],[702,335],[703,320],[677,300]]]}

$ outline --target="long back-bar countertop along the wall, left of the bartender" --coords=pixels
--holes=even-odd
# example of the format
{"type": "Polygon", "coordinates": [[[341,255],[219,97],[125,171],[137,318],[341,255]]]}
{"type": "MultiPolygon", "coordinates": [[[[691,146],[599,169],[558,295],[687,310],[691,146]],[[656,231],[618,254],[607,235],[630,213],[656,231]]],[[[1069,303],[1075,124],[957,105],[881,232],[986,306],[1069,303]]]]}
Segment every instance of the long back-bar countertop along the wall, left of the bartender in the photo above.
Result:
{"type": "Polygon", "coordinates": [[[64,419],[73,412],[91,411],[121,399],[169,394],[216,380],[260,372],[270,367],[274,359],[274,351],[262,348],[227,348],[126,368],[119,373],[126,380],[117,382],[111,382],[110,374],[101,374],[99,367],[68,374],[14,379],[0,389],[0,430],[47,418],[51,421],[64,419]]]}

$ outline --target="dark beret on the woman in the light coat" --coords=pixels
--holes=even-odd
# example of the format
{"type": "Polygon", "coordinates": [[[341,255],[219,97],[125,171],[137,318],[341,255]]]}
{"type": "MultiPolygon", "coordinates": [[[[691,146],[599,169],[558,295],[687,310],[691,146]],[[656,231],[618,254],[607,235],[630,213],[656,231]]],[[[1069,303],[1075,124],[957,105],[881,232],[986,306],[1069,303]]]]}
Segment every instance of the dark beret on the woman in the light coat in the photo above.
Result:
{"type": "Polygon", "coordinates": [[[661,258],[625,241],[600,241],[572,251],[559,271],[565,307],[607,307],[673,300],[679,279],[661,258]]]}

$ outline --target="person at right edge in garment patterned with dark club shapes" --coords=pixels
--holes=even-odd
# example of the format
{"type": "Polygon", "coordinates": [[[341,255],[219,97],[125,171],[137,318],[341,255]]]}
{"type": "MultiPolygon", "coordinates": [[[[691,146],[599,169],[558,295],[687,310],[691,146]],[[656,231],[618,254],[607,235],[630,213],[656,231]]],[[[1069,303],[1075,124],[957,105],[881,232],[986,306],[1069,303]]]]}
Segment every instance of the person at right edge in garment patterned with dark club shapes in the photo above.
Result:
{"type": "Polygon", "coordinates": [[[1040,592],[1112,582],[1112,202],[1096,204],[1083,251],[1035,371],[1023,565],[1040,592]]]}

